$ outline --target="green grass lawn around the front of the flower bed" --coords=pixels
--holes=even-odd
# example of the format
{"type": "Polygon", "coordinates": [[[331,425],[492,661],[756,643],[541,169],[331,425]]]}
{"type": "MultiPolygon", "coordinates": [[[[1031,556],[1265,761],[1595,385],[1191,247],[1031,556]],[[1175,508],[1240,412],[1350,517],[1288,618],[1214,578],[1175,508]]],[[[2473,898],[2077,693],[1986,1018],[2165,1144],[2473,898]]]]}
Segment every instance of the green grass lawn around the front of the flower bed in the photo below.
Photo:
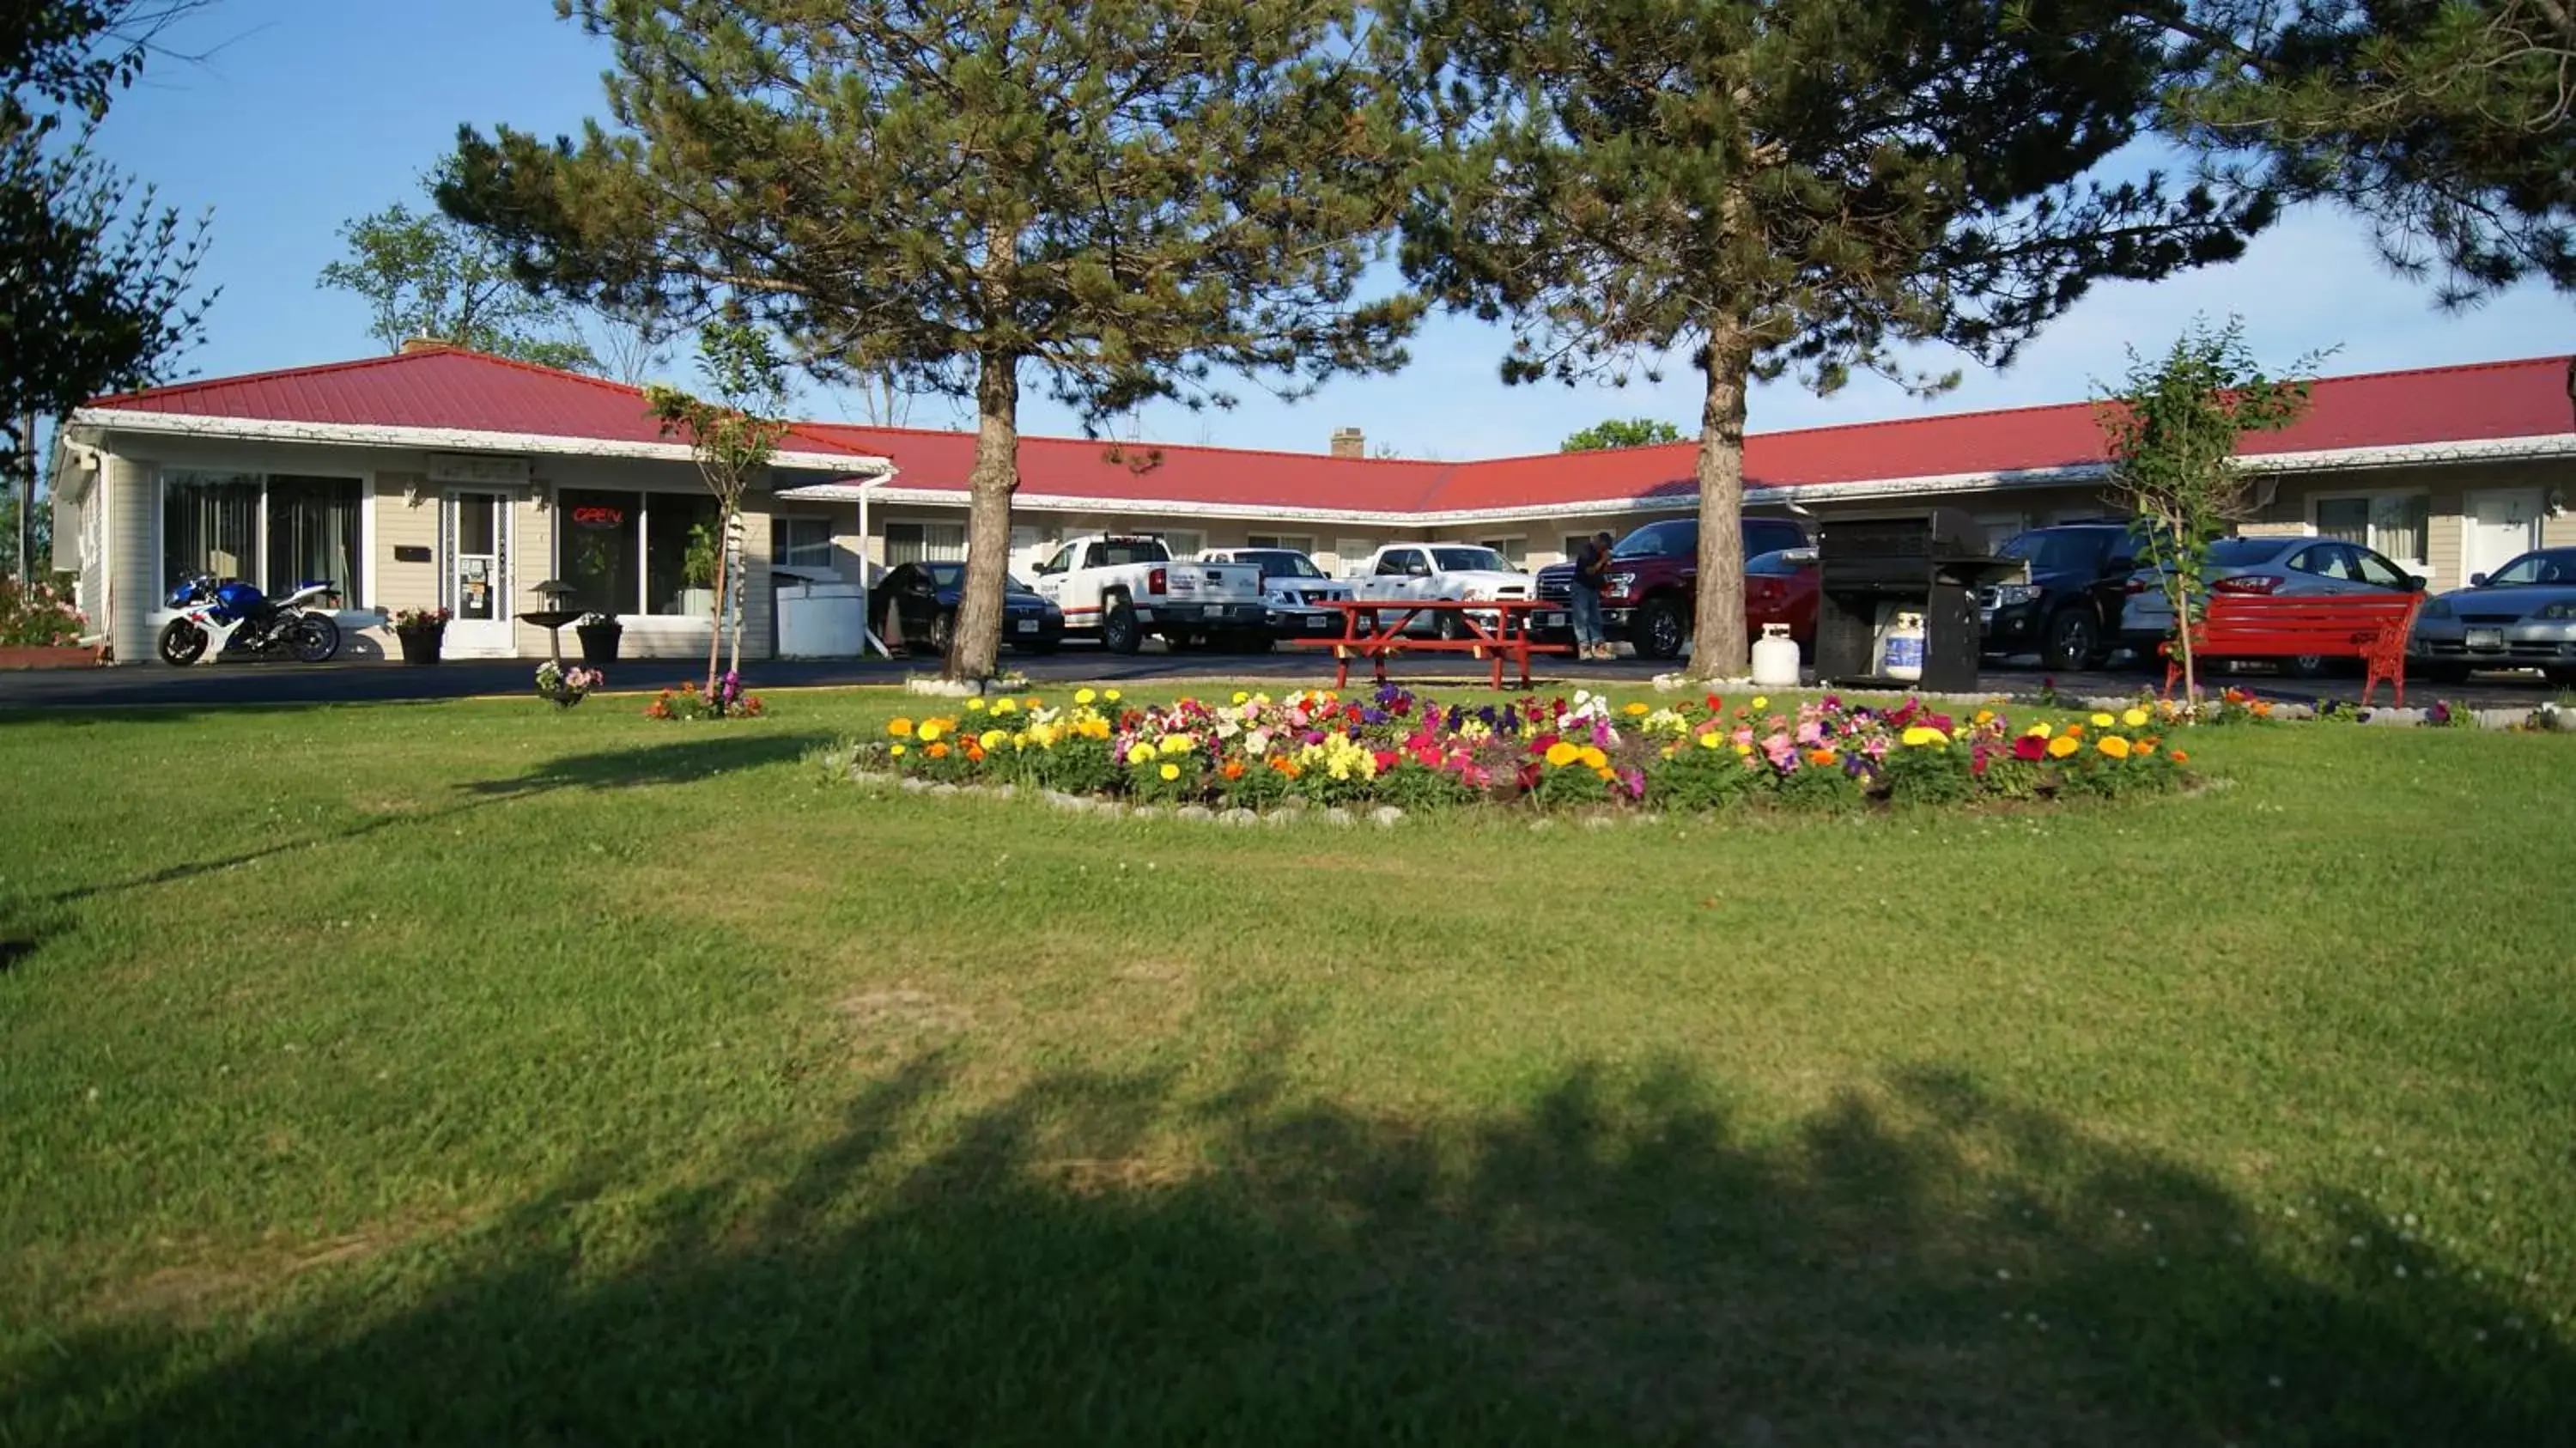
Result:
{"type": "Polygon", "coordinates": [[[0,1443],[2563,1443],[2576,752],[1103,822],[0,714],[0,1443]]]}

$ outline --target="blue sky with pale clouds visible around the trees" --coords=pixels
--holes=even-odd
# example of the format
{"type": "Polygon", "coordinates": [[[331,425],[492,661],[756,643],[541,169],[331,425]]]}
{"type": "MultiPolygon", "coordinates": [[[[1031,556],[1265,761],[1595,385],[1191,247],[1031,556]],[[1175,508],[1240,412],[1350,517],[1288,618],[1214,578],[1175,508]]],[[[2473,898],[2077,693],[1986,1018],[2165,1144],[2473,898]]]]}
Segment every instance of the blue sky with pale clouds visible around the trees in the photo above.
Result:
{"type": "MultiPolygon", "coordinates": [[[[201,376],[343,361],[376,350],[366,309],[319,291],[314,276],[337,252],[337,227],[392,201],[415,201],[415,178],[453,142],[461,121],[507,121],[564,131],[600,111],[605,54],[554,18],[551,0],[219,0],[175,41],[209,49],[204,64],[157,64],[108,119],[100,147],[185,209],[214,209],[209,276],[224,294],[201,376]]],[[[2226,268],[2161,286],[2105,286],[2061,317],[2007,374],[1971,363],[1958,392],[1914,402],[1857,381],[1837,397],[1790,384],[1754,394],[1754,428],[1868,423],[1919,412],[2081,399],[2115,379],[2123,345],[2161,348],[2195,314],[2246,317],[2272,363],[2342,348],[2329,371],[2496,361],[2576,348],[2576,301],[2522,289],[2470,314],[2439,314],[2427,294],[2396,281],[2357,222],[2298,214],[2226,268]]],[[[1566,433],[1605,415],[1654,415],[1685,430],[1698,420],[1687,366],[1656,386],[1620,392],[1497,381],[1504,338],[1440,319],[1414,343],[1414,363],[1381,379],[1345,379],[1319,397],[1280,405],[1244,386],[1221,415],[1149,410],[1141,433],[1170,443],[1231,443],[1321,451],[1340,425],[1409,456],[1499,456],[1553,451],[1566,433]]],[[[1937,361],[1937,358],[1935,358],[1937,361]]],[[[817,417],[860,417],[855,405],[811,394],[817,417]]],[[[948,425],[948,402],[914,405],[914,425],[948,425]]],[[[1056,405],[1030,399],[1023,425],[1074,430],[1056,405]]]]}

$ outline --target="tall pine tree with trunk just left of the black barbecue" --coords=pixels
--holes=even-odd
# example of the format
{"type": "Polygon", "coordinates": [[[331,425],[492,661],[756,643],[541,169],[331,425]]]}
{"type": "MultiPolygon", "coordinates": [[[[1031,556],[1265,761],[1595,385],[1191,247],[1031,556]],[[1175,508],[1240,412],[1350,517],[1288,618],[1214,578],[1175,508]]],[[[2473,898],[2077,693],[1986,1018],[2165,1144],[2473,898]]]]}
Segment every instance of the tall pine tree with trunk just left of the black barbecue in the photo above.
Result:
{"type": "Polygon", "coordinates": [[[1510,317],[1507,381],[1703,379],[1692,670],[1741,672],[1744,394],[1909,376],[1899,343],[2004,363],[2097,278],[2223,260],[2269,219],[2161,178],[2166,31],[2105,0],[1404,0],[1422,124],[1412,278],[1510,317]]]}

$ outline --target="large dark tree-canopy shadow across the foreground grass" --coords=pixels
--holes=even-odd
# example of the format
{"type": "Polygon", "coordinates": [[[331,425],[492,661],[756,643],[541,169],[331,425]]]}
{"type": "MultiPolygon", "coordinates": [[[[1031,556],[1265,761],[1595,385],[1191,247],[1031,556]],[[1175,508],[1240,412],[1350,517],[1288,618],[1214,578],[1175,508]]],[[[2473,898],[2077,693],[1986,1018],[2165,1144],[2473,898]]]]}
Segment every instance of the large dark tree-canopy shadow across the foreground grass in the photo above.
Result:
{"type": "Polygon", "coordinates": [[[70,1335],[0,1363],[0,1438],[2522,1445],[2576,1407],[2460,1273],[2316,1265],[1955,1077],[1765,1134],[1680,1069],[1453,1123],[948,1087],[912,1062],[801,1167],[567,1185],[255,1329],[70,1335]]]}

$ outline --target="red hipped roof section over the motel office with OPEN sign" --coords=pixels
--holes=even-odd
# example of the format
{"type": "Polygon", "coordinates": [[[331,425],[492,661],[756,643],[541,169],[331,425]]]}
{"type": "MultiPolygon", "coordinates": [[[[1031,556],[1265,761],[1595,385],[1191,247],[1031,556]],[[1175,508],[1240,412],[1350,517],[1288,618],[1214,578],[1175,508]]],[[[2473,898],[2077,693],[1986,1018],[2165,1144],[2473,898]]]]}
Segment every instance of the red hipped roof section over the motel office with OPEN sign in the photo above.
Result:
{"type": "MultiPolygon", "coordinates": [[[[100,397],[90,407],[258,423],[595,438],[605,443],[672,441],[644,407],[644,392],[636,386],[448,345],[415,345],[384,358],[183,381],[100,397]]],[[[788,448],[850,451],[804,428],[793,433],[788,448]]]]}

